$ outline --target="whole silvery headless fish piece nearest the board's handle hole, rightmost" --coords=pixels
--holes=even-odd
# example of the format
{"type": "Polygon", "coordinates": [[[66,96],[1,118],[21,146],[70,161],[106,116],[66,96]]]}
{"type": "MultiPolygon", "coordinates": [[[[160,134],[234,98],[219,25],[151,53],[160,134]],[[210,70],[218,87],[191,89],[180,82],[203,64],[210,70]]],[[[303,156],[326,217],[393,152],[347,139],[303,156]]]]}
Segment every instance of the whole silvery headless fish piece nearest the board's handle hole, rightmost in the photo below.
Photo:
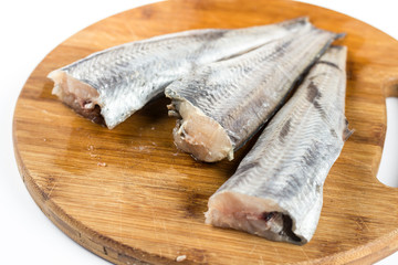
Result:
{"type": "Polygon", "coordinates": [[[333,46],[315,63],[210,197],[206,223],[294,244],[312,239],[326,176],[352,134],[344,114],[346,53],[333,46]]]}

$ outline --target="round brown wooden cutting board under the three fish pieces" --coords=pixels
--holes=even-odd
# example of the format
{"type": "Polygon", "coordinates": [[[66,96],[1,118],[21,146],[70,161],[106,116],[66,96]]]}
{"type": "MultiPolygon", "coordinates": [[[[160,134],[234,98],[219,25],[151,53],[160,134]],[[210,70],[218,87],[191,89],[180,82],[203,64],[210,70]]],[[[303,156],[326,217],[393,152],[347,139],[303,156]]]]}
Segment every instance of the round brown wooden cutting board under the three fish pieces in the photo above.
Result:
{"type": "Polygon", "coordinates": [[[270,0],[160,2],[88,26],[39,64],[14,113],[15,158],[29,192],[49,219],[113,263],[171,264],[178,256],[186,256],[187,264],[370,263],[398,248],[398,190],[376,179],[386,132],[385,95],[398,94],[396,76],[398,42],[331,10],[270,0]],[[49,72],[109,46],[301,15],[322,29],[347,33],[339,43],[348,46],[346,116],[355,129],[327,177],[316,233],[303,246],[203,223],[208,198],[249,147],[231,162],[197,162],[172,142],[168,99],[147,105],[108,130],[51,95],[49,72]]]}

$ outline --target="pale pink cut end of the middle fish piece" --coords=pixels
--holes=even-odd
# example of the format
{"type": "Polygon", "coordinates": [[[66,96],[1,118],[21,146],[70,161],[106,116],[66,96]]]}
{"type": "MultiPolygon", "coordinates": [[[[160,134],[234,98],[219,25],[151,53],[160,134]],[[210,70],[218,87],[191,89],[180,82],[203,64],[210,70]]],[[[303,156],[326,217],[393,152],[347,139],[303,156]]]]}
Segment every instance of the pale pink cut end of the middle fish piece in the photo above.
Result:
{"type": "Polygon", "coordinates": [[[233,159],[232,142],[219,123],[187,100],[172,100],[168,108],[170,116],[181,118],[172,131],[179,149],[205,162],[233,159]]]}

